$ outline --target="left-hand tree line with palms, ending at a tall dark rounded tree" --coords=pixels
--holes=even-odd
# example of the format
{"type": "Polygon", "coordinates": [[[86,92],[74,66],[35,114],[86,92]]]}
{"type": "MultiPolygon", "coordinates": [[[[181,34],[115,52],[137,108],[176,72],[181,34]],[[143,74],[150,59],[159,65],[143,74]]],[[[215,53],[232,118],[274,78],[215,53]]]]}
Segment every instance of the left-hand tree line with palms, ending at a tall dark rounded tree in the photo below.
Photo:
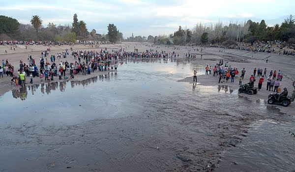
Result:
{"type": "Polygon", "coordinates": [[[100,34],[95,29],[90,32],[87,24],[78,20],[77,14],[73,16],[72,25],[59,25],[49,23],[46,27],[38,15],[32,16],[30,24],[21,24],[16,19],[0,16],[0,40],[44,40],[44,41],[67,41],[93,40],[119,42],[123,40],[123,33],[119,32],[114,24],[109,24],[108,33],[100,34]]]}

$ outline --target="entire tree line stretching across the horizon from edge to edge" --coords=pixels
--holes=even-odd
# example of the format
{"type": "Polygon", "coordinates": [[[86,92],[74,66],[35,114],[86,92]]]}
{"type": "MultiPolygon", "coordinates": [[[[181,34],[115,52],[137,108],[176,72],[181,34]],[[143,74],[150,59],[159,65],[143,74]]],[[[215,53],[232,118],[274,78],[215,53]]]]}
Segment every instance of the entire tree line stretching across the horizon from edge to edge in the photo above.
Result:
{"type": "Polygon", "coordinates": [[[224,44],[234,45],[237,42],[253,44],[255,41],[286,41],[290,45],[295,44],[295,20],[292,15],[285,19],[282,24],[268,27],[264,20],[260,23],[248,20],[247,22],[231,22],[224,25],[222,22],[216,24],[196,24],[192,29],[179,26],[173,34],[152,36],[132,36],[123,38],[114,24],[108,25],[108,33],[100,34],[95,29],[90,32],[87,24],[78,20],[77,14],[73,16],[71,25],[59,25],[49,23],[43,26],[40,16],[34,15],[30,24],[20,24],[16,19],[0,16],[0,40],[46,40],[46,41],[68,41],[95,40],[110,42],[153,42],[160,44],[224,44]]]}

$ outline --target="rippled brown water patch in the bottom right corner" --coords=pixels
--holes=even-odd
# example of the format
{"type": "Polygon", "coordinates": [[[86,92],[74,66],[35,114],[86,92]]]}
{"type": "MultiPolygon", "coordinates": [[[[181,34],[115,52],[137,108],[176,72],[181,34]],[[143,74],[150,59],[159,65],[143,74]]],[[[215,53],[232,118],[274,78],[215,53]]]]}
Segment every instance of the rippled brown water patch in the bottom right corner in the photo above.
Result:
{"type": "Polygon", "coordinates": [[[217,172],[291,172],[295,170],[294,124],[259,120],[243,142],[223,154],[217,172]]]}

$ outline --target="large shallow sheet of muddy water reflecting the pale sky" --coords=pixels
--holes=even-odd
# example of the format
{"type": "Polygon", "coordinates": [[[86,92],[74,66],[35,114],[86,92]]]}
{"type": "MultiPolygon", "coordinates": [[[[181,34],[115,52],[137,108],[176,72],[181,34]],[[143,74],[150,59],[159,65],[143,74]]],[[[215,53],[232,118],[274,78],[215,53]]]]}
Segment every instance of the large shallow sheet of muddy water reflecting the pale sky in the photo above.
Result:
{"type": "Polygon", "coordinates": [[[293,120],[230,86],[177,82],[193,70],[205,73],[187,61],[126,60],[116,73],[7,92],[0,97],[0,171],[222,169],[252,122],[293,120]]]}

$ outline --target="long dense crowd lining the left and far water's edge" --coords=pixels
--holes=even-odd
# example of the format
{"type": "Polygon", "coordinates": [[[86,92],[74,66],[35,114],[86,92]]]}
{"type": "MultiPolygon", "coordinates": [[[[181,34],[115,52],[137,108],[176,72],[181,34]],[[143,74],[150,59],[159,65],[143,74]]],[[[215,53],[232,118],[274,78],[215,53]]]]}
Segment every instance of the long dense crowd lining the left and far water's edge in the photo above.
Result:
{"type": "MultiPolygon", "coordinates": [[[[129,46],[128,46],[129,48],[129,46]]],[[[134,52],[126,51],[127,47],[119,46],[118,50],[108,51],[107,48],[100,51],[69,51],[65,49],[56,55],[50,53],[50,48],[41,52],[40,58],[36,59],[28,56],[28,62],[20,60],[19,68],[15,74],[15,67],[8,62],[2,60],[0,67],[0,77],[2,74],[11,77],[11,86],[13,89],[24,87],[29,83],[33,84],[33,79],[39,77],[41,83],[53,81],[55,77],[58,80],[74,79],[76,75],[91,75],[96,71],[115,71],[118,70],[118,61],[127,57],[133,58],[173,58],[177,57],[174,51],[157,51],[152,48],[139,52],[134,46],[134,52]],[[70,59],[69,59],[70,58],[70,59]],[[68,62],[75,61],[75,62],[68,62]],[[1,72],[2,71],[2,72],[1,72]]]]}

